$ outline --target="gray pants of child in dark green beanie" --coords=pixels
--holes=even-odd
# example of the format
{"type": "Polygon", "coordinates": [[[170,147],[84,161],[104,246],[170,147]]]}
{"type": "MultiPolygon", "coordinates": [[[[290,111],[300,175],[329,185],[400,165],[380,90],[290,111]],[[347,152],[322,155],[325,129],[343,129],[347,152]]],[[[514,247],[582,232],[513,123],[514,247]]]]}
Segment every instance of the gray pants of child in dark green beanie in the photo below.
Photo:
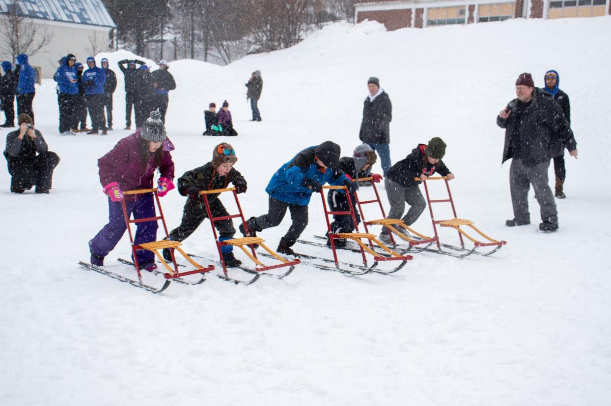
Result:
{"type": "MultiPolygon", "coordinates": [[[[388,196],[388,202],[390,203],[390,212],[386,217],[401,219],[408,226],[414,224],[426,208],[426,201],[420,192],[420,187],[414,185],[411,188],[404,188],[388,177],[384,179],[384,186],[386,186],[386,196],[388,196]],[[403,216],[406,203],[409,205],[409,210],[403,216]]],[[[384,232],[387,232],[387,230],[384,227],[384,232]]]]}

